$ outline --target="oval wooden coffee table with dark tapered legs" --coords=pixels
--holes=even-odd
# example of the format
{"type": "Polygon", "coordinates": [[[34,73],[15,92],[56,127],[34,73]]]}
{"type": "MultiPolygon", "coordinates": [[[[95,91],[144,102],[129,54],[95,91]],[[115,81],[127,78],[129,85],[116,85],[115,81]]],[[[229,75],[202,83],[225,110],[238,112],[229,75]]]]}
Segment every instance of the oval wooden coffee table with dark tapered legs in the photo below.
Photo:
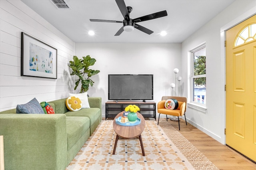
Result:
{"type": "Polygon", "coordinates": [[[139,125],[122,126],[122,125],[116,124],[116,119],[119,116],[123,116],[123,114],[124,114],[124,111],[118,113],[118,115],[116,115],[116,117],[114,118],[114,121],[113,121],[113,128],[114,128],[114,131],[116,132],[116,141],[115,141],[115,145],[114,145],[113,154],[115,154],[115,152],[116,152],[116,145],[117,145],[117,141],[119,138],[122,138],[122,139],[139,138],[142,155],[145,156],[144,147],[143,147],[142,138],[141,138],[141,133],[144,131],[144,127],[145,127],[144,117],[139,112],[137,112],[138,118],[140,118],[140,121],[141,121],[139,125]]]}

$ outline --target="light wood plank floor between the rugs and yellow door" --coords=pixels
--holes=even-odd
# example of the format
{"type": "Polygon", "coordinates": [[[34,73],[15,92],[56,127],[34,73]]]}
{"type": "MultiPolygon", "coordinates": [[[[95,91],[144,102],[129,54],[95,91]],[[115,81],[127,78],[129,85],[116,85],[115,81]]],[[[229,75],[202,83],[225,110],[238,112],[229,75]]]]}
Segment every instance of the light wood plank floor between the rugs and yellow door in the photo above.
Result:
{"type": "MultiPolygon", "coordinates": [[[[168,119],[179,130],[178,122],[168,119]]],[[[196,127],[180,121],[180,133],[220,170],[256,170],[256,164],[226,145],[222,145],[196,127]]]]}

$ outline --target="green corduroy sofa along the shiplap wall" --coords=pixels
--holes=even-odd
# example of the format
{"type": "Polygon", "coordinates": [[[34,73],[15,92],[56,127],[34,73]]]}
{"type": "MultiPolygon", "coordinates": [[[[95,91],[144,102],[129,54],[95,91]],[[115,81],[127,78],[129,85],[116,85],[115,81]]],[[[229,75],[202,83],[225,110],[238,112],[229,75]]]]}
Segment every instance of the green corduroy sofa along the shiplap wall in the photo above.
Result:
{"type": "Polygon", "coordinates": [[[56,114],[0,112],[5,170],[64,170],[102,120],[102,99],[68,111],[66,99],[48,102],[56,114]]]}

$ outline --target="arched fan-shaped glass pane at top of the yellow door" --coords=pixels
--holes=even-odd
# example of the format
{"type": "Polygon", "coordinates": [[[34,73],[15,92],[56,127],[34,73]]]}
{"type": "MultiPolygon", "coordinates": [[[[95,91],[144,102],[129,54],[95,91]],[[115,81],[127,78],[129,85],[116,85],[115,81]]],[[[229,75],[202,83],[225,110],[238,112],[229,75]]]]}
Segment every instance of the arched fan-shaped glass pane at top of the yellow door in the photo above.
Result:
{"type": "Polygon", "coordinates": [[[256,39],[256,23],[244,27],[237,35],[234,47],[256,39]]]}

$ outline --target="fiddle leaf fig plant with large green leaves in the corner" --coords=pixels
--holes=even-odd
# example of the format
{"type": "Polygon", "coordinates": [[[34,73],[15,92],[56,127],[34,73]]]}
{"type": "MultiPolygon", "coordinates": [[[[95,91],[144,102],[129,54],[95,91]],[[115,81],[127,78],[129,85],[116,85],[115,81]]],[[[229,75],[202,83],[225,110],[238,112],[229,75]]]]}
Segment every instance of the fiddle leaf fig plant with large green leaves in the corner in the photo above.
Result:
{"type": "Polygon", "coordinates": [[[93,86],[94,81],[92,81],[90,77],[100,72],[100,70],[89,69],[89,66],[94,65],[96,59],[91,58],[90,55],[82,58],[83,59],[78,59],[77,56],[73,56],[73,61],[69,61],[68,63],[68,66],[73,70],[70,75],[78,76],[78,80],[75,82],[76,86],[74,90],[76,90],[80,82],[82,84],[80,93],[87,92],[89,85],[93,86]]]}

